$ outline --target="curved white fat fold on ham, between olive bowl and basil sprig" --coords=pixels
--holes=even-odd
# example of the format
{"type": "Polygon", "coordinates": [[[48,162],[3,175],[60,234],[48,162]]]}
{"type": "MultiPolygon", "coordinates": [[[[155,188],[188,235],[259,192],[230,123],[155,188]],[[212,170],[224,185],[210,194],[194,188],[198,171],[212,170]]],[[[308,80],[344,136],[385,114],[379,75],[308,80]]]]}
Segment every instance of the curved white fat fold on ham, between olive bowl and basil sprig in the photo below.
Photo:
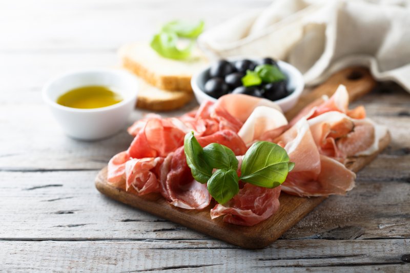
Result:
{"type": "Polygon", "coordinates": [[[245,144],[249,145],[254,140],[260,140],[265,132],[288,125],[285,116],[275,108],[258,106],[243,123],[238,135],[245,144]]]}

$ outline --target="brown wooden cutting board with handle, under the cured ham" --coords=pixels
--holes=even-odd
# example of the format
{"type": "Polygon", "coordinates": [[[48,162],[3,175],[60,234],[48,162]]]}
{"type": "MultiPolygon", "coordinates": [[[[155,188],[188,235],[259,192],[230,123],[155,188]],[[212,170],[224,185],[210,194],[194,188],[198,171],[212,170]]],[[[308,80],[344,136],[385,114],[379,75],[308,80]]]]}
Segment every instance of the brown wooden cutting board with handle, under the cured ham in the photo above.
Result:
{"type": "MultiPolygon", "coordinates": [[[[313,91],[305,92],[295,108],[286,113],[286,117],[292,118],[306,103],[322,95],[332,95],[339,84],[346,86],[351,100],[354,100],[370,92],[376,82],[364,68],[344,69],[313,91]]],[[[370,156],[350,158],[346,166],[358,172],[386,148],[389,141],[387,134],[380,140],[379,151],[370,156]]],[[[214,201],[200,211],[183,209],[170,205],[160,194],[137,196],[133,188],[126,192],[125,186],[114,187],[107,182],[107,167],[98,173],[95,186],[98,191],[114,200],[245,248],[263,248],[271,244],[326,198],[303,198],[281,193],[279,211],[272,217],[254,226],[239,226],[223,222],[223,217],[211,220],[210,209],[215,205],[214,201]]]]}

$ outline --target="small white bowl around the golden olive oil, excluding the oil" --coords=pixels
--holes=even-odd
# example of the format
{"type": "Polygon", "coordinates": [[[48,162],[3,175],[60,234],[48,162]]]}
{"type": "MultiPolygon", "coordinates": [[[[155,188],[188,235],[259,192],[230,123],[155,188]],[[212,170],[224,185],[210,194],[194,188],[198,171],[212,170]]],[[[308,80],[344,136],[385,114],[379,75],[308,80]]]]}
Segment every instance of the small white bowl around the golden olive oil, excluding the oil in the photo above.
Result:
{"type": "Polygon", "coordinates": [[[83,140],[109,137],[124,128],[135,107],[138,81],[132,74],[114,69],[89,69],[70,72],[49,81],[43,88],[48,104],[67,135],[83,140]],[[122,101],[108,107],[77,109],[58,104],[57,98],[74,88],[108,86],[120,94],[122,101]]]}

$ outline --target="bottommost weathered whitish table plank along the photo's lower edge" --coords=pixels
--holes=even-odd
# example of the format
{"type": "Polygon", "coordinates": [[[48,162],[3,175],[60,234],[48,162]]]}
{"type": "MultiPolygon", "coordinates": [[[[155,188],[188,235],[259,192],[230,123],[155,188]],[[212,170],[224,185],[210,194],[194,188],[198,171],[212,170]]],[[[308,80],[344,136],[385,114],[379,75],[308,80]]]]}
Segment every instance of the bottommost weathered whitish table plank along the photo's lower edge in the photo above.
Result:
{"type": "Polygon", "coordinates": [[[391,265],[390,269],[405,271],[410,269],[410,264],[405,264],[401,257],[408,253],[409,244],[408,239],[279,240],[269,248],[250,251],[212,249],[209,241],[0,241],[0,262],[6,271],[292,272],[309,267],[329,270],[333,266],[340,266],[334,269],[345,271],[360,265],[367,266],[364,267],[367,269],[383,269],[384,265],[391,265]]]}

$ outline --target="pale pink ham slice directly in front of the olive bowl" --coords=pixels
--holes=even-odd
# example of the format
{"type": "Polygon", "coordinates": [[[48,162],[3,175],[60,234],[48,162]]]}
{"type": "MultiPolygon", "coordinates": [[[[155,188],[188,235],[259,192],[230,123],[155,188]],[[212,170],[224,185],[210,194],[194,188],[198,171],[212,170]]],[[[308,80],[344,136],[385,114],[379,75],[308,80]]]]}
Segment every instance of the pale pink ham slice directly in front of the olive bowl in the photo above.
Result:
{"type": "Polygon", "coordinates": [[[247,121],[248,117],[258,106],[267,106],[282,112],[280,107],[269,99],[243,94],[224,95],[215,102],[215,109],[223,109],[227,111],[231,116],[242,123],[247,121]]]}

